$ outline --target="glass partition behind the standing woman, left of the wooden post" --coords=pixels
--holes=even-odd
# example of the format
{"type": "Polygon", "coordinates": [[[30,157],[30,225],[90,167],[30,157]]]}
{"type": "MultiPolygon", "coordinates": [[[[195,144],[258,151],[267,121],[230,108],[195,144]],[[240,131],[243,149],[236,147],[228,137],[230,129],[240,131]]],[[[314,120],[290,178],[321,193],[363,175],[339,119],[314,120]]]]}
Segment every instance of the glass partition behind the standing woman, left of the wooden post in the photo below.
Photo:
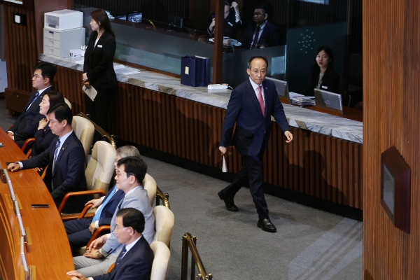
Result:
{"type": "MultiPolygon", "coordinates": [[[[90,11],[96,9],[73,5],[74,10],[83,12],[83,26],[86,28],[86,42],[90,36],[90,11]]],[[[200,55],[209,57],[213,66],[213,44],[202,31],[188,28],[169,29],[165,22],[141,19],[141,22],[120,20],[120,13],[111,19],[116,34],[116,59],[139,64],[161,71],[180,74],[181,57],[200,55]]]]}

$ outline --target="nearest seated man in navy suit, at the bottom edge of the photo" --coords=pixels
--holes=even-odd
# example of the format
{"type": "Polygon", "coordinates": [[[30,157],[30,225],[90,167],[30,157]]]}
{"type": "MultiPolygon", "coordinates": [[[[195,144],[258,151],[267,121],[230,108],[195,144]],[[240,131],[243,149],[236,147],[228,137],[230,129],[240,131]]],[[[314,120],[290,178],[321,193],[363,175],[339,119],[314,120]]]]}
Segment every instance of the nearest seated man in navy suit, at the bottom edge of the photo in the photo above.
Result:
{"type": "Polygon", "coordinates": [[[113,231],[120,244],[124,244],[111,272],[86,278],[75,270],[67,272],[72,280],[148,280],[151,279],[153,251],[143,237],[145,219],[141,211],[134,208],[120,209],[116,214],[113,231]]]}

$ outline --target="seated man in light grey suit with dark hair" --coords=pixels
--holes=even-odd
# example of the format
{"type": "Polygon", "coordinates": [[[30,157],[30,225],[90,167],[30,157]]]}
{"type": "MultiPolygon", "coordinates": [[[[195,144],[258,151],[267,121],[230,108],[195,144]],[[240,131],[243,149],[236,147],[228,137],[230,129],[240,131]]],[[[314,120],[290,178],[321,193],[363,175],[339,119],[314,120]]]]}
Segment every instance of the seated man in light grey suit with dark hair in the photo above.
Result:
{"type": "Polygon", "coordinates": [[[155,218],[153,209],[148,200],[147,190],[142,186],[147,165],[144,160],[137,157],[127,157],[118,160],[116,169],[117,188],[125,193],[120,201],[116,213],[111,221],[111,233],[102,235],[92,241],[86,253],[73,258],[77,272],[87,277],[105,274],[109,267],[116,262],[123,245],[118,242],[116,233],[117,212],[123,208],[134,208],[144,215],[144,239],[151,244],[155,241],[155,218]]]}

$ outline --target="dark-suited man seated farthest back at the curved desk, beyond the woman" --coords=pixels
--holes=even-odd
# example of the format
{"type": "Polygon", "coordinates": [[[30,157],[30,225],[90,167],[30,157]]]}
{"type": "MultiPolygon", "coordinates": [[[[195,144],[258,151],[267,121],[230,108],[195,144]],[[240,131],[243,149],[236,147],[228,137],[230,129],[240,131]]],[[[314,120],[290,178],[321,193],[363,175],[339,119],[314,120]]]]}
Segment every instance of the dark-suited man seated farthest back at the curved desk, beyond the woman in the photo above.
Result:
{"type": "Polygon", "coordinates": [[[55,72],[55,66],[48,62],[41,62],[34,68],[32,86],[35,87],[36,91],[32,93],[24,111],[7,132],[8,136],[18,144],[19,148],[22,148],[27,139],[34,137],[39,121],[44,118],[39,113],[39,104],[45,92],[54,90],[52,81],[54,80],[55,72]]]}

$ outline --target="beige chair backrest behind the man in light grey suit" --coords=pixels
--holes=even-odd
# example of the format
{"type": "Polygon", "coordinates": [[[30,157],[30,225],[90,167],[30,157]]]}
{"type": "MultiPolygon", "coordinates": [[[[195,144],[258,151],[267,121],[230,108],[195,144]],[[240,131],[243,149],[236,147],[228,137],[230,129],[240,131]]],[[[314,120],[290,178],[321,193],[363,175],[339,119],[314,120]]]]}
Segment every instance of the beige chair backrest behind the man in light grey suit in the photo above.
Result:
{"type": "Polygon", "coordinates": [[[171,209],[158,205],[153,208],[153,216],[155,216],[155,241],[162,241],[169,247],[172,230],[174,230],[174,213],[171,209]]]}

